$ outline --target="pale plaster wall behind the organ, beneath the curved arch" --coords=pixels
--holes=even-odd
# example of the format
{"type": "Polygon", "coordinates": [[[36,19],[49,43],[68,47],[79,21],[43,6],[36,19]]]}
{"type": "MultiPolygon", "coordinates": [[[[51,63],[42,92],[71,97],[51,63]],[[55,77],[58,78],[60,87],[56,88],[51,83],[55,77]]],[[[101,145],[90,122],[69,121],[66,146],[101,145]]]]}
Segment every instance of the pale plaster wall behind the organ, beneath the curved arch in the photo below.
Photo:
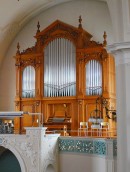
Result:
{"type": "Polygon", "coordinates": [[[0,110],[14,110],[15,97],[15,61],[17,42],[21,50],[35,44],[33,36],[40,21],[41,30],[46,28],[56,19],[62,20],[73,26],[78,26],[78,17],[82,16],[83,28],[91,33],[93,39],[103,42],[103,32],[108,34],[108,43],[113,42],[112,24],[107,3],[94,0],[75,0],[54,6],[32,19],[11,43],[9,50],[0,68],[0,110]]]}

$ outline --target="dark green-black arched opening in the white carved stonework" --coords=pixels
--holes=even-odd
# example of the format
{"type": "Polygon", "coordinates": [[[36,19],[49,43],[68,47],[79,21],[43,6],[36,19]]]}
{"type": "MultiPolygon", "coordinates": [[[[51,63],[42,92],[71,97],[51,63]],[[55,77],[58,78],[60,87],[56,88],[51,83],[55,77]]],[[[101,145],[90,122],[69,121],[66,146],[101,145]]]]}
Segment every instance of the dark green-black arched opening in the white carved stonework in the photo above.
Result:
{"type": "Polygon", "coordinates": [[[9,149],[3,149],[0,155],[0,171],[1,172],[21,172],[20,164],[15,155],[9,149]],[[4,151],[3,151],[4,150],[4,151]]]}

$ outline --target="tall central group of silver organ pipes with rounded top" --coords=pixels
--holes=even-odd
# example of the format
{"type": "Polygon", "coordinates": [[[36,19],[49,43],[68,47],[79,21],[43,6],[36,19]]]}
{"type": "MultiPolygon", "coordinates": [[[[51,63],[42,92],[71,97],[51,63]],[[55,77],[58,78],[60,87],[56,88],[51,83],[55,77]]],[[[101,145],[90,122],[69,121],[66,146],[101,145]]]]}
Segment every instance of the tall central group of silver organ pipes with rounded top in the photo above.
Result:
{"type": "Polygon", "coordinates": [[[44,96],[76,95],[76,49],[71,41],[57,38],[44,52],[44,96]]]}

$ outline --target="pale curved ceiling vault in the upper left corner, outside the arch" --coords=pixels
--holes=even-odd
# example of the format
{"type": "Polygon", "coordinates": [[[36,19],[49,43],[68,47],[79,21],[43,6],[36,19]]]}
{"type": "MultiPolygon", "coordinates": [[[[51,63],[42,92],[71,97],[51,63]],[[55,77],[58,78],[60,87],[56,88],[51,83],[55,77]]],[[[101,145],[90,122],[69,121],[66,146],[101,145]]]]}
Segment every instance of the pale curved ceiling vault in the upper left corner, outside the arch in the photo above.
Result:
{"type": "Polygon", "coordinates": [[[30,19],[68,1],[74,0],[0,0],[0,64],[12,40],[30,19]]]}

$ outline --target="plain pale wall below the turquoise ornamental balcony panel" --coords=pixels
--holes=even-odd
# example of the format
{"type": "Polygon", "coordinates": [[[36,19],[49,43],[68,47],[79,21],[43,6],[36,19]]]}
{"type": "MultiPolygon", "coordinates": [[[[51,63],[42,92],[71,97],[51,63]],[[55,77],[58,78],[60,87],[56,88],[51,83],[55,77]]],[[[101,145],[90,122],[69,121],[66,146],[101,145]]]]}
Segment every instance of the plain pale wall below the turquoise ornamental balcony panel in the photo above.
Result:
{"type": "Polygon", "coordinates": [[[59,155],[59,171],[60,172],[116,172],[114,168],[115,162],[103,157],[83,154],[60,153],[59,155]],[[109,168],[108,168],[109,166],[109,168]]]}

